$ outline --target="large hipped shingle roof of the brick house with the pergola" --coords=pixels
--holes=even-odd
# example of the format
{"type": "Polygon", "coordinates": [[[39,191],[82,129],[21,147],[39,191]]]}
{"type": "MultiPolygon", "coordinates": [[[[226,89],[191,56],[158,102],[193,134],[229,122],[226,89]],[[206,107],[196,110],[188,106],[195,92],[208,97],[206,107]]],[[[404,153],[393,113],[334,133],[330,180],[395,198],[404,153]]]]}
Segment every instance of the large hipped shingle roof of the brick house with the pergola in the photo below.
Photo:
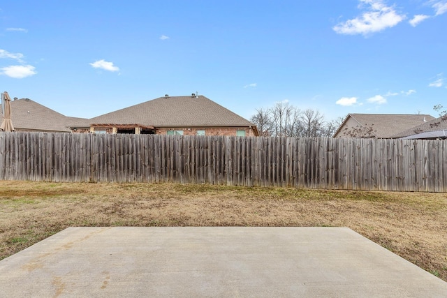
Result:
{"type": "Polygon", "coordinates": [[[155,127],[254,126],[205,96],[160,97],[89,119],[89,124],[131,123],[155,127]]]}

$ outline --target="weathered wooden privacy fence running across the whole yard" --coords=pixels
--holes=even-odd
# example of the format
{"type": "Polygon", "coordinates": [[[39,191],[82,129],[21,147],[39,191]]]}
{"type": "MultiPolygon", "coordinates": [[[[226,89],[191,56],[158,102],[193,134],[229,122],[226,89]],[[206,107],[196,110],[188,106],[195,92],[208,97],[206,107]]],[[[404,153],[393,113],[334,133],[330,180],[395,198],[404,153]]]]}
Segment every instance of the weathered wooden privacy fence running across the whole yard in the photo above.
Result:
{"type": "Polygon", "coordinates": [[[446,141],[0,133],[0,179],[447,191],[446,141]]]}

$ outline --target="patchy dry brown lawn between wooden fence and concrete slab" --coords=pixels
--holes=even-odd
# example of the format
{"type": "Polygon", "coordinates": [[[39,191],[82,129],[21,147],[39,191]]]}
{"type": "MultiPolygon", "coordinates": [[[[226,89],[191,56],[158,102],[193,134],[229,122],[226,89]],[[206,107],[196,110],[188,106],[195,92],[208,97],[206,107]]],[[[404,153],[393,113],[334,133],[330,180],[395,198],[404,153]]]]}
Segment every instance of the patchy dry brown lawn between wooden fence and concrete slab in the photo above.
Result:
{"type": "Polygon", "coordinates": [[[345,226],[447,281],[447,194],[0,181],[0,260],[70,226],[345,226]]]}

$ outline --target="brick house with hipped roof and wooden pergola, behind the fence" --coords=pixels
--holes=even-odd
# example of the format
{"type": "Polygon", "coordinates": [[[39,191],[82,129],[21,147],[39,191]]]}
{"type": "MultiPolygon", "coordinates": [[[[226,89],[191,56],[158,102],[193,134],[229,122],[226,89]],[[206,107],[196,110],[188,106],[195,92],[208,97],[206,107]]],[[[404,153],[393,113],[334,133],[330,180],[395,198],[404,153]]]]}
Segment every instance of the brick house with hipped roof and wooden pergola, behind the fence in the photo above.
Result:
{"type": "Polygon", "coordinates": [[[163,96],[69,124],[78,133],[257,136],[250,121],[205,96],[163,96]]]}

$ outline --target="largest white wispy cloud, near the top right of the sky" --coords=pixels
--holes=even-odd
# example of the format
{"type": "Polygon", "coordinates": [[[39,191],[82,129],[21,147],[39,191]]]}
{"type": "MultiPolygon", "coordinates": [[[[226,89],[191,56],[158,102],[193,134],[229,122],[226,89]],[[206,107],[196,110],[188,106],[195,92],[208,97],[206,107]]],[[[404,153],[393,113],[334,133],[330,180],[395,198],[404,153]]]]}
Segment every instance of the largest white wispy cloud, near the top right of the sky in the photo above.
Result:
{"type": "Polygon", "coordinates": [[[386,28],[395,27],[406,18],[400,15],[392,6],[386,6],[383,0],[359,0],[369,6],[365,13],[352,20],[337,24],[332,29],[339,34],[363,34],[379,32],[386,28]]]}

